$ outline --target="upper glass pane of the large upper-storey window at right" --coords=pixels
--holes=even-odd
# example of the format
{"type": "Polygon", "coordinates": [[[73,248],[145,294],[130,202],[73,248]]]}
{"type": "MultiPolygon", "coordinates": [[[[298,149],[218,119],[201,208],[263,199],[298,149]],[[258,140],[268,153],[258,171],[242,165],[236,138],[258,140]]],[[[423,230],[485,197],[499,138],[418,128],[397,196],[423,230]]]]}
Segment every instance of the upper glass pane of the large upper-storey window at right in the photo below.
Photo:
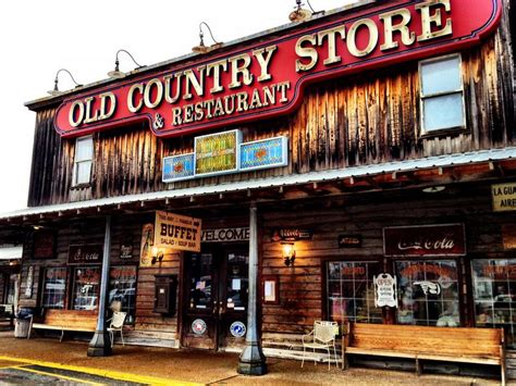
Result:
{"type": "Polygon", "coordinates": [[[460,90],[459,58],[421,64],[421,82],[423,96],[460,90]]]}

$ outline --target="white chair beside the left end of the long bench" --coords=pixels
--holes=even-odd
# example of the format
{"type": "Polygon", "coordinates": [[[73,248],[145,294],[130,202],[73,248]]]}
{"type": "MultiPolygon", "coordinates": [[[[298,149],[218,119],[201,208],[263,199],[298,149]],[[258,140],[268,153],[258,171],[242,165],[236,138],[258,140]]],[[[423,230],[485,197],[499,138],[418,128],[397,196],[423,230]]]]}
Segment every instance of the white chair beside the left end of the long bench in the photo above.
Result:
{"type": "MultiPolygon", "coordinates": [[[[303,362],[302,368],[305,364],[306,349],[311,348],[314,353],[316,349],[327,350],[328,352],[328,370],[331,368],[331,351],[333,347],[333,353],[335,356],[335,365],[339,368],[339,361],[336,359],[335,348],[335,336],[339,334],[339,324],[336,322],[316,321],[314,323],[314,329],[306,335],[303,335],[303,362]]],[[[317,358],[314,359],[314,363],[317,364],[317,358]]]]}

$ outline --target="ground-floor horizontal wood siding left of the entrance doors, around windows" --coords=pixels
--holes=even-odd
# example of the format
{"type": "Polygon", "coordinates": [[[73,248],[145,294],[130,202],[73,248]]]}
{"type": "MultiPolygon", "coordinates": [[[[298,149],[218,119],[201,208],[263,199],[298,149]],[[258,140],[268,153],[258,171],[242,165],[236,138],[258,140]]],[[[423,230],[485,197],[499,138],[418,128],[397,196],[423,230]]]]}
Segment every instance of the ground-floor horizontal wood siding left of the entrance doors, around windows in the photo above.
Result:
{"type": "MultiPolygon", "coordinates": [[[[152,222],[152,215],[125,215],[112,220],[111,229],[111,266],[120,266],[120,246],[122,242],[132,241],[133,259],[124,265],[138,265],[140,253],[142,226],[144,223],[152,222]]],[[[71,245],[98,244],[103,245],[105,220],[102,216],[88,220],[74,220],[61,223],[57,231],[57,248],[53,259],[33,259],[32,237],[27,238],[24,246],[24,258],[22,267],[22,282],[20,294],[21,307],[40,307],[44,269],[48,266],[67,266],[66,278],[66,304],[71,309],[71,295],[73,285],[73,266],[67,265],[69,249],[71,245]],[[34,266],[33,295],[25,296],[27,287],[28,267],[34,266]]],[[[155,299],[155,275],[180,273],[179,253],[167,253],[163,262],[152,267],[138,267],[138,279],[136,284],[136,317],[130,327],[127,341],[133,344],[153,345],[161,341],[161,346],[176,347],[177,316],[163,317],[152,312],[155,299]]],[[[81,264],[83,266],[83,264],[81,264]]],[[[96,265],[99,266],[100,265],[96,265]]],[[[0,285],[1,287],[1,285],[0,285]]]]}

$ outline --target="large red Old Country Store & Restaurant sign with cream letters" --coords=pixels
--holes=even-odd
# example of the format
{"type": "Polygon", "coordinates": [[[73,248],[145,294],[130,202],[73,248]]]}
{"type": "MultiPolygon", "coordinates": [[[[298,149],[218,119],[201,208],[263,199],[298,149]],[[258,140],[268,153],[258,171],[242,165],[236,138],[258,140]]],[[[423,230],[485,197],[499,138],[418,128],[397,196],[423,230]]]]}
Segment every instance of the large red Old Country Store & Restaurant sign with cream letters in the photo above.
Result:
{"type": "Polygon", "coordinates": [[[496,26],[501,0],[382,1],[341,15],[74,96],[56,129],[74,137],[148,121],[171,137],[286,114],[309,83],[478,42],[496,26]]]}

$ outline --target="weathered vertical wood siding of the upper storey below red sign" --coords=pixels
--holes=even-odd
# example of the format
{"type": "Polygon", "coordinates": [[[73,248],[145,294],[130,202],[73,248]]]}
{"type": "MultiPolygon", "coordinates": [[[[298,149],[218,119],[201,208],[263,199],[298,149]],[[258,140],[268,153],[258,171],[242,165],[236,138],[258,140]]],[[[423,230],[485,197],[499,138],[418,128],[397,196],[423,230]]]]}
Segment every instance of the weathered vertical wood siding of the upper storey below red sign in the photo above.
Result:
{"type": "MultiPolygon", "coordinates": [[[[507,5],[508,7],[508,5],[507,5]]],[[[514,145],[514,62],[508,14],[483,45],[463,52],[467,130],[422,137],[418,63],[410,62],[309,87],[290,116],[239,127],[244,140],[290,138],[283,169],[161,183],[164,155],[193,151],[192,136],[159,139],[143,125],[96,134],[91,185],[72,187],[75,140],[52,127],[54,110],[36,121],[28,204],[212,185],[514,145]]],[[[204,133],[206,134],[206,133],[204,133]]]]}

